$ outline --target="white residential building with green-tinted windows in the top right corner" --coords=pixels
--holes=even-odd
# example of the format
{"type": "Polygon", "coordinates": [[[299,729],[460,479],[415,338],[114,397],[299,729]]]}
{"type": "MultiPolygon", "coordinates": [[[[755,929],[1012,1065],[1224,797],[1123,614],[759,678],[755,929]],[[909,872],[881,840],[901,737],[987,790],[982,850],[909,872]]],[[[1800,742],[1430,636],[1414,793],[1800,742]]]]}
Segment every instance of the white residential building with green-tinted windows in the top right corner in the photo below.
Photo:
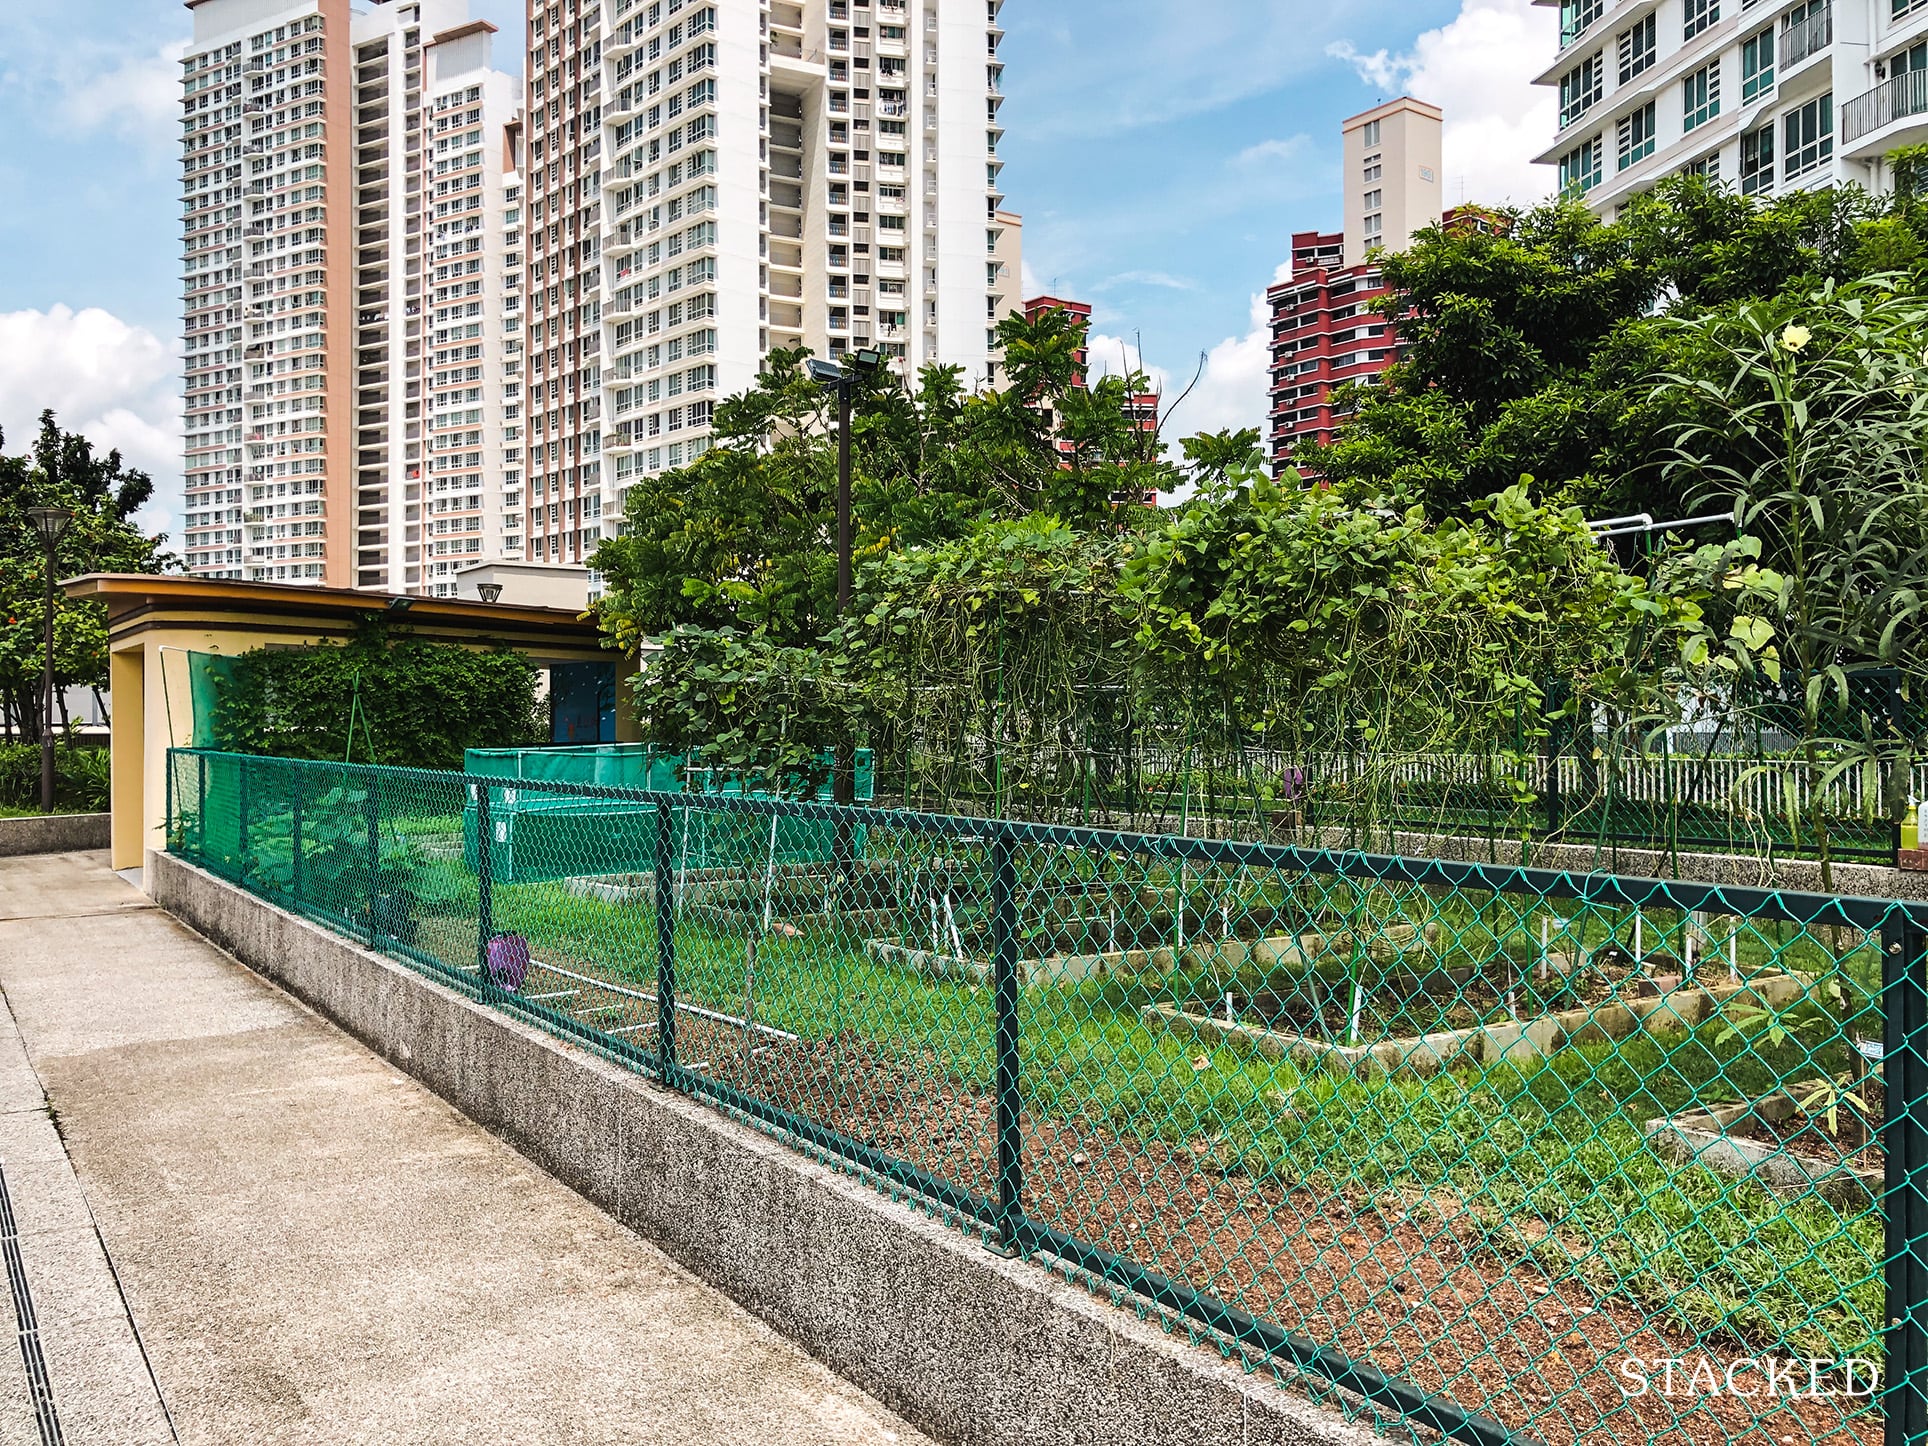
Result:
{"type": "Polygon", "coordinates": [[[1539,158],[1602,216],[1677,172],[1747,195],[1893,185],[1928,141],[1924,0],[1537,0],[1560,6],[1539,158]]]}

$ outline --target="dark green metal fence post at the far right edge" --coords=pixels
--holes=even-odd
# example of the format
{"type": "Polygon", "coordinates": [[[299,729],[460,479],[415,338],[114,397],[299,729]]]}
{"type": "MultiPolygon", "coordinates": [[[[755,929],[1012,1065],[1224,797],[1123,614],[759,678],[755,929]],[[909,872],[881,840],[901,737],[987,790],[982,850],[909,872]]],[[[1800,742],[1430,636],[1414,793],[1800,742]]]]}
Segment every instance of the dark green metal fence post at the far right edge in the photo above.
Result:
{"type": "Polygon", "coordinates": [[[1888,1286],[1886,1446],[1928,1438],[1928,927],[1882,925],[1882,1193],[1888,1286]]]}

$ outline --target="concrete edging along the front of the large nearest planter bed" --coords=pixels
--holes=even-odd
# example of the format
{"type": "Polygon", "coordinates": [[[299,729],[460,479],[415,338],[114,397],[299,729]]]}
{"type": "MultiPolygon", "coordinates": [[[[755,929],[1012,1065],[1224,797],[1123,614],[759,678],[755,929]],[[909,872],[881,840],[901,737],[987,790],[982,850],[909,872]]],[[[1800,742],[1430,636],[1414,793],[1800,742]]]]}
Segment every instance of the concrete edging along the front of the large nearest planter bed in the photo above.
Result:
{"type": "Polygon", "coordinates": [[[1749,997],[1760,1006],[1780,1008],[1799,999],[1808,985],[1810,979],[1797,974],[1762,974],[1741,981],[1674,983],[1672,987],[1662,983],[1647,995],[1614,995],[1585,1008],[1361,1045],[1271,1030],[1238,1020],[1236,1014],[1226,1020],[1203,1004],[1147,1004],[1143,1016],[1151,1024],[1182,1030],[1199,1039],[1242,1045],[1271,1058],[1290,1058],[1334,1074],[1361,1078],[1377,1074],[1431,1076],[1459,1066],[1525,1064],[1569,1045],[1598,1045],[1635,1033],[1687,1030],[1741,997],[1749,997]]]}

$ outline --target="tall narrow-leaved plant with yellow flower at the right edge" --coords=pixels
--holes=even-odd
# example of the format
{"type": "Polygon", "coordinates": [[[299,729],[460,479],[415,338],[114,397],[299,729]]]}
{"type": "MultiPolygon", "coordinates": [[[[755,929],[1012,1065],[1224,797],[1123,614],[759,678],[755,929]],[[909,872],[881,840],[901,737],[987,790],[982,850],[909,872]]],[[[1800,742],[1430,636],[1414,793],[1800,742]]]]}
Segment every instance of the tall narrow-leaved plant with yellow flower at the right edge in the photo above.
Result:
{"type": "MultiPolygon", "coordinates": [[[[1928,297],[1899,276],[1830,281],[1674,328],[1714,361],[1656,388],[1679,418],[1668,476],[1743,534],[1743,555],[1699,559],[1726,569],[1739,602],[1722,661],[1770,684],[1753,694],[1772,721],[1793,719],[1812,771],[1878,765],[1899,817],[1928,740],[1866,704],[1928,665],[1928,297]]],[[[1820,790],[1812,829],[1826,862],[1820,790]]]]}

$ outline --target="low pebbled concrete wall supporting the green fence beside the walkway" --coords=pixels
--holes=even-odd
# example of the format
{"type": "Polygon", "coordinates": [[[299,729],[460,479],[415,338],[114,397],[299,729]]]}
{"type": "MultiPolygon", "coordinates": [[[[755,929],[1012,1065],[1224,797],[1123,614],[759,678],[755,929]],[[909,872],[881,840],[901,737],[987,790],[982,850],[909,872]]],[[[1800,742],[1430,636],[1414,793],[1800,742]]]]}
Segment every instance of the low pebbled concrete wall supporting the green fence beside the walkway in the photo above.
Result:
{"type": "Polygon", "coordinates": [[[168,854],[154,900],[956,1446],[1384,1440],[1217,1352],[168,854]]]}

